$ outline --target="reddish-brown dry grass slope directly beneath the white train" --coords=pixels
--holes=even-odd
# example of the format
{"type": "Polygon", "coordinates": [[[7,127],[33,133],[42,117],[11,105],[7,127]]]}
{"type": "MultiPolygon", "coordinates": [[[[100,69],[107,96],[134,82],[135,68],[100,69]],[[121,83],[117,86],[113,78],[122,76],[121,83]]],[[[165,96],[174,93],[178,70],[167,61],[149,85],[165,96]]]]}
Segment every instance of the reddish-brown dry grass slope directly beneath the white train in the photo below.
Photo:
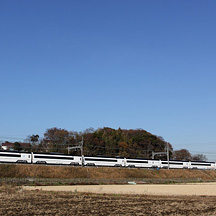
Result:
{"type": "Polygon", "coordinates": [[[89,168],[42,165],[0,165],[0,178],[83,178],[83,179],[200,179],[216,180],[214,170],[150,170],[127,168],[89,168]]]}

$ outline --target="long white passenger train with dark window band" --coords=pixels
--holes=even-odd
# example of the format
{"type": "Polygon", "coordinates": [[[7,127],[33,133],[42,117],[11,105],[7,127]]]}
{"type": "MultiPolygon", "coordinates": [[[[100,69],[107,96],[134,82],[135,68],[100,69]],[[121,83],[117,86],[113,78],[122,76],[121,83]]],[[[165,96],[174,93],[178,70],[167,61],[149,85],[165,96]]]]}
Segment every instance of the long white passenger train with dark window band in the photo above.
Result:
{"type": "Polygon", "coordinates": [[[0,163],[27,163],[73,166],[215,170],[215,162],[149,160],[103,156],[72,156],[59,153],[34,153],[0,150],[0,163]]]}

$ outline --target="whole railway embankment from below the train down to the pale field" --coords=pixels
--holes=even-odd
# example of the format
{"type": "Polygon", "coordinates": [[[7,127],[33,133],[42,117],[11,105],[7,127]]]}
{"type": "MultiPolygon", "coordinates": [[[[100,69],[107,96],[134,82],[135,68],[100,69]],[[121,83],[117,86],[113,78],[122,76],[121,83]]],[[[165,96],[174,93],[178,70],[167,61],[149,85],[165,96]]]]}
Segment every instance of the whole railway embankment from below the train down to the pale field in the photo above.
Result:
{"type": "Polygon", "coordinates": [[[63,184],[201,182],[216,181],[216,171],[0,164],[0,180],[63,184]]]}

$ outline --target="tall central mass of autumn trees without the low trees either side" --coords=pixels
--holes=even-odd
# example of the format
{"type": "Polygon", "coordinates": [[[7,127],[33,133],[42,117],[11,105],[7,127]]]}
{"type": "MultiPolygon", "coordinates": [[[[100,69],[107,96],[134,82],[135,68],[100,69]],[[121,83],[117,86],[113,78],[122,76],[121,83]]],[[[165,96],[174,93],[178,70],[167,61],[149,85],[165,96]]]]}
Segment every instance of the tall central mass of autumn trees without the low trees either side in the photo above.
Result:
{"type": "MultiPolygon", "coordinates": [[[[115,130],[108,127],[97,130],[89,128],[83,132],[50,128],[44,133],[41,146],[48,152],[68,153],[67,148],[76,145],[82,138],[84,139],[83,153],[89,156],[151,158],[152,151],[165,151],[167,146],[167,142],[162,137],[143,129],[115,130]]],[[[172,149],[171,144],[170,149],[172,149]]],[[[70,153],[80,155],[80,152],[72,150],[70,153]]]]}

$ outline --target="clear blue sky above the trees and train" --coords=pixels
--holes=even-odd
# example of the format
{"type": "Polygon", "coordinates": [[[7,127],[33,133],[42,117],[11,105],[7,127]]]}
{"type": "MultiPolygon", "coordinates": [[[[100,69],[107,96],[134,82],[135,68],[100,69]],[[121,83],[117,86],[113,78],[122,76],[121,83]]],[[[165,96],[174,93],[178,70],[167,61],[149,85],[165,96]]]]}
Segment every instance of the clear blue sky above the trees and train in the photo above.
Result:
{"type": "Polygon", "coordinates": [[[0,140],[143,128],[216,159],[216,1],[1,0],[0,140]]]}

